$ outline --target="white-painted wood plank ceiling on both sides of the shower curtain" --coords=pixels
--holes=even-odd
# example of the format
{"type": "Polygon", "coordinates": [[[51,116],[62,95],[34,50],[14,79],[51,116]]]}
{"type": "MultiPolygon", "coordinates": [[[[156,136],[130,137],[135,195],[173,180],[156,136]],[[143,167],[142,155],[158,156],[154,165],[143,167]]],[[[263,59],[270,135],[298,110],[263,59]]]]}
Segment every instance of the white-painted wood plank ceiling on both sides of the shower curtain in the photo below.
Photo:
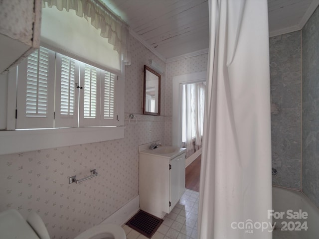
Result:
{"type": "MultiPolygon", "coordinates": [[[[208,0],[102,1],[163,59],[208,48],[208,0]]],[[[318,4],[319,0],[268,0],[270,35],[300,30],[318,4]]]]}

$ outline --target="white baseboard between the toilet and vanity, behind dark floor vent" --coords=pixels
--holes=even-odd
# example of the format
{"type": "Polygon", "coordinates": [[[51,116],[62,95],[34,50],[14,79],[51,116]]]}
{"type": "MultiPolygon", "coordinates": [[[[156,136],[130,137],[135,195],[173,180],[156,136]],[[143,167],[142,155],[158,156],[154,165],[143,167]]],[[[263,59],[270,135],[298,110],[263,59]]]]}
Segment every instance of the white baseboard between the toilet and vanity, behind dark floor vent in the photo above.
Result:
{"type": "Polygon", "coordinates": [[[118,211],[106,218],[101,224],[113,223],[122,226],[140,210],[140,196],[136,196],[118,211]]]}

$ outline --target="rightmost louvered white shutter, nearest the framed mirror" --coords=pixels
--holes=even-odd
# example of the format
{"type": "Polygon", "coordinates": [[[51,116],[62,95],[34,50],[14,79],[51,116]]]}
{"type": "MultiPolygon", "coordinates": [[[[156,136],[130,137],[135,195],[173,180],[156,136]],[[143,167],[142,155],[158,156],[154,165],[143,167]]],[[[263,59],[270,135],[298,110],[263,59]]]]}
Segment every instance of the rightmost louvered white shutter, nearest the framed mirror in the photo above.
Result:
{"type": "Polygon", "coordinates": [[[101,71],[101,125],[117,125],[115,91],[118,76],[101,71]]]}

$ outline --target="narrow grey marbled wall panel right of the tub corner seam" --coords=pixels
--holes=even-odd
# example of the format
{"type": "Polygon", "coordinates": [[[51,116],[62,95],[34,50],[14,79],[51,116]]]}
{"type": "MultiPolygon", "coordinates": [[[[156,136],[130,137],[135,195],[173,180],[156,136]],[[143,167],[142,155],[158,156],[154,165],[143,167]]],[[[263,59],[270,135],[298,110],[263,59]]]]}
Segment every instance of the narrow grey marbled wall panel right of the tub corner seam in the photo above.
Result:
{"type": "Polygon", "coordinates": [[[302,191],[319,207],[319,8],[303,34],[302,191]]]}

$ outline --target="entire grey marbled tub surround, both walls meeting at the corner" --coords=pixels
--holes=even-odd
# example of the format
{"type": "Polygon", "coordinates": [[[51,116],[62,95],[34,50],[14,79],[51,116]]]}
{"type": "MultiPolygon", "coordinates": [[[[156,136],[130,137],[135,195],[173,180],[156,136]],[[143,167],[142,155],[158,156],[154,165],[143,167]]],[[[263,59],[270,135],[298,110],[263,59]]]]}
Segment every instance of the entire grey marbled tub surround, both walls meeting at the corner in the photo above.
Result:
{"type": "Polygon", "coordinates": [[[302,31],[270,38],[273,184],[301,189],[317,207],[318,42],[319,8],[302,31]]]}

